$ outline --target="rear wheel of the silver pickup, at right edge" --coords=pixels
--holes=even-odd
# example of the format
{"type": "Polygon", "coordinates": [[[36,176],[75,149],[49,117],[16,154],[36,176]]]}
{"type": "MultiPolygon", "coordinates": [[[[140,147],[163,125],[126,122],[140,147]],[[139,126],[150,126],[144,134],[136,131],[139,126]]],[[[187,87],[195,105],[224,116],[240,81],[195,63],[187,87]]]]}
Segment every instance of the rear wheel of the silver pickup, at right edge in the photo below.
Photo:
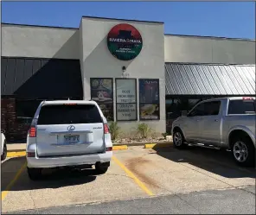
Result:
{"type": "Polygon", "coordinates": [[[234,138],[232,143],[232,154],[234,161],[243,167],[255,165],[255,147],[249,136],[234,138]]]}

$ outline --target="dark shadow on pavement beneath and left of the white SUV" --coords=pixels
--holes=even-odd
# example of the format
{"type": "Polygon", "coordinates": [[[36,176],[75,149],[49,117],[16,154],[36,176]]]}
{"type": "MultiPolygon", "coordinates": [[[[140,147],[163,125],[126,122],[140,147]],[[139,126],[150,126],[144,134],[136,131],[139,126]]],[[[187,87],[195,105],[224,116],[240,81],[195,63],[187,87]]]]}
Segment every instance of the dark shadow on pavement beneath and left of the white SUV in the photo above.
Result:
{"type": "MultiPolygon", "coordinates": [[[[1,164],[2,180],[1,187],[4,191],[16,174],[26,163],[25,157],[10,158],[1,164]]],[[[23,168],[22,173],[9,187],[10,191],[35,190],[45,188],[60,188],[81,185],[96,180],[97,173],[94,169],[71,170],[71,169],[45,169],[41,180],[30,180],[27,168],[23,168]]]]}

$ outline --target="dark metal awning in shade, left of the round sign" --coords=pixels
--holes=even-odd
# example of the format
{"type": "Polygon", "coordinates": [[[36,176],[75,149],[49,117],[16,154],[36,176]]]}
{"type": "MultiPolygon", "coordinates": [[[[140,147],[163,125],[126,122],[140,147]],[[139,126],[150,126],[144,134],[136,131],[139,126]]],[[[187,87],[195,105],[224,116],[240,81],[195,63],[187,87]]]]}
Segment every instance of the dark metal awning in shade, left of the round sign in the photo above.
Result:
{"type": "Polygon", "coordinates": [[[1,59],[1,94],[16,98],[83,98],[80,60],[1,59]]]}

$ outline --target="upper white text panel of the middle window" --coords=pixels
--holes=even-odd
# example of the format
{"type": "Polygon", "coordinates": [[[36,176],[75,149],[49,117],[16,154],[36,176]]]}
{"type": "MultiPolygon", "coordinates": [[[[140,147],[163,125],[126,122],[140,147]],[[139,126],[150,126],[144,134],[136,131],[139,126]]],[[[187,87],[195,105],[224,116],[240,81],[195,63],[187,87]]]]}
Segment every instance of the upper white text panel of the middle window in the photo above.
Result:
{"type": "Polygon", "coordinates": [[[136,103],[136,79],[116,79],[117,103],[136,103]]]}

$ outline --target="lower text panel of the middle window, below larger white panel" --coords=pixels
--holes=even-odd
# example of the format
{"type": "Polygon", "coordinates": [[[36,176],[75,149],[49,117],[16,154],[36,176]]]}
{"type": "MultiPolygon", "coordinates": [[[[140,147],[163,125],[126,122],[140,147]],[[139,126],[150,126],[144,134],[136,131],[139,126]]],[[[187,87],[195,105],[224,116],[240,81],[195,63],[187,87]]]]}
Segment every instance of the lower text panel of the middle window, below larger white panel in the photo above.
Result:
{"type": "Polygon", "coordinates": [[[137,120],[136,104],[117,104],[117,120],[137,120]]]}

